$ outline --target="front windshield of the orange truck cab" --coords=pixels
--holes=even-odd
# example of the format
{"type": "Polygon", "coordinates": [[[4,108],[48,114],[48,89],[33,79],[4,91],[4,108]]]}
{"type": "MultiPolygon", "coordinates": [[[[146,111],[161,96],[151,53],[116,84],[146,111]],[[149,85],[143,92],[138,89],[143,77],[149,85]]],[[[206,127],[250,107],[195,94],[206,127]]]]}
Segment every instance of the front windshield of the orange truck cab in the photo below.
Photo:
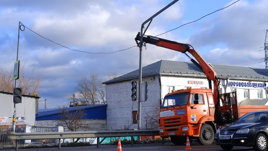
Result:
{"type": "Polygon", "coordinates": [[[164,98],[162,108],[188,104],[190,93],[177,93],[164,98]]]}

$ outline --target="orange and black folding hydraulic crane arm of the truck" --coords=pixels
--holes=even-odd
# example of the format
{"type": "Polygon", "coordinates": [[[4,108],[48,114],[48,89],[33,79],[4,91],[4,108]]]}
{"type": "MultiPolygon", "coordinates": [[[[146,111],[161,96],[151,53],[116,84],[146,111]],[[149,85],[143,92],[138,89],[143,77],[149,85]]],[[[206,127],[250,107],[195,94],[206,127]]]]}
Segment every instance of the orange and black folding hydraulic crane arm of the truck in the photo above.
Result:
{"type": "MultiPolygon", "coordinates": [[[[204,73],[204,75],[207,77],[207,79],[213,81],[213,83],[214,83],[213,84],[213,86],[214,86],[214,90],[213,90],[214,103],[215,103],[215,105],[218,104],[219,81],[218,81],[216,72],[212,69],[212,67],[208,63],[206,63],[206,61],[201,57],[201,55],[195,49],[191,49],[190,45],[188,45],[188,44],[178,43],[175,41],[161,39],[158,37],[143,35],[142,38],[143,38],[143,42],[145,42],[145,43],[156,45],[159,47],[164,47],[164,48],[171,49],[171,50],[175,50],[175,51],[184,53],[188,58],[190,58],[191,61],[197,67],[199,67],[201,69],[201,71],[204,73]],[[198,63],[194,59],[189,57],[186,54],[186,52],[189,52],[198,61],[198,63]]],[[[139,40],[140,40],[140,32],[138,32],[138,34],[135,37],[135,41],[137,44],[138,44],[139,40]]],[[[142,44],[140,44],[140,45],[142,45],[142,44]]],[[[212,89],[211,83],[209,83],[209,88],[212,89]]]]}

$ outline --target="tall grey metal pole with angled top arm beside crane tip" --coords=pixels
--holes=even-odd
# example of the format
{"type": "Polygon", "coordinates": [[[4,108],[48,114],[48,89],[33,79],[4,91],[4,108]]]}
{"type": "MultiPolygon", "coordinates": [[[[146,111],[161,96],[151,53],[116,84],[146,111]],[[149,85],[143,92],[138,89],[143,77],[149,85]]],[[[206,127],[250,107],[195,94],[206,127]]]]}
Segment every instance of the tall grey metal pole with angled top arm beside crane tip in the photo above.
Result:
{"type": "Polygon", "coordinates": [[[148,18],[147,20],[145,20],[140,27],[140,39],[139,39],[139,82],[138,82],[138,130],[140,130],[140,121],[141,121],[141,82],[142,82],[142,66],[141,66],[141,60],[142,60],[142,45],[143,45],[143,35],[145,34],[147,28],[149,27],[150,23],[152,22],[152,19],[154,17],[156,17],[158,14],[160,14],[161,12],[163,12],[164,10],[166,10],[168,7],[170,7],[171,5],[173,5],[175,2],[177,2],[178,0],[174,0],[172,1],[170,4],[168,4],[167,6],[165,6],[164,8],[162,8],[161,10],[159,10],[157,13],[155,13],[154,15],[152,15],[150,18],[148,18]],[[149,22],[150,21],[150,22],[149,22]],[[147,28],[145,29],[144,33],[143,33],[143,28],[144,25],[149,22],[147,28]]]}

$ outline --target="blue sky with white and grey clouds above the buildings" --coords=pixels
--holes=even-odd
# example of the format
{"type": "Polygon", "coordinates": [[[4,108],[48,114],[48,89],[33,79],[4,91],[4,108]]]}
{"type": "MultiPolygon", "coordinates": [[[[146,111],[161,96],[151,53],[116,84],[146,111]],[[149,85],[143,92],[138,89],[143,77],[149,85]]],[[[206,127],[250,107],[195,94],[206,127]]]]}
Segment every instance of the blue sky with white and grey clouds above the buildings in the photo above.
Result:
{"type": "MultiPolygon", "coordinates": [[[[0,0],[0,68],[13,70],[19,45],[20,65],[42,78],[39,109],[45,99],[47,108],[67,105],[81,77],[104,82],[137,70],[141,24],[172,1],[0,0]]],[[[179,0],[145,24],[145,35],[190,44],[211,64],[265,69],[268,1],[235,1],[179,0]]],[[[190,62],[176,51],[143,47],[142,67],[159,60],[190,62]]]]}

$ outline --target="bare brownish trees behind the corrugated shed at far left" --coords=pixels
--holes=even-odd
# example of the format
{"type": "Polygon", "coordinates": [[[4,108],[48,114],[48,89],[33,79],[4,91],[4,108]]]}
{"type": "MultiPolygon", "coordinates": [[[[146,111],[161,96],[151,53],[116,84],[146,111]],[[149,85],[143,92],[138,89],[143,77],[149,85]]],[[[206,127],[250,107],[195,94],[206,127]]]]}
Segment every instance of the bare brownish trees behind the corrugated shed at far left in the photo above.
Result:
{"type": "MultiPolygon", "coordinates": [[[[17,87],[22,87],[22,94],[38,96],[41,75],[35,76],[35,69],[32,69],[30,75],[27,75],[24,66],[19,70],[19,79],[17,87]]],[[[12,80],[13,72],[8,72],[6,69],[0,68],[0,91],[13,93],[14,83],[12,80]]]]}

